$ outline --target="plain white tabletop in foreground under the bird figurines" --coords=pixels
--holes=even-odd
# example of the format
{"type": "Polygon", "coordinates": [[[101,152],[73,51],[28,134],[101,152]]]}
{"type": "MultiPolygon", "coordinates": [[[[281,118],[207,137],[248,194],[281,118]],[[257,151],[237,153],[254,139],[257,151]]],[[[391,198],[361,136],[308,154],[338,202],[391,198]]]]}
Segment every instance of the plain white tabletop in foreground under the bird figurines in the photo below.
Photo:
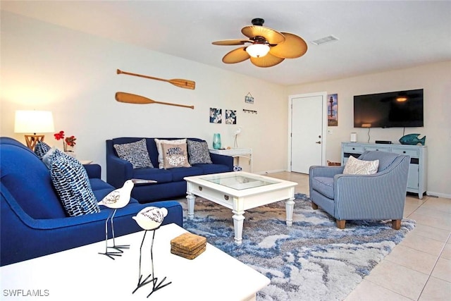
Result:
{"type": "MultiPolygon", "coordinates": [[[[155,276],[159,281],[166,276],[171,284],[149,298],[152,283],[132,294],[138,280],[142,231],[116,238],[118,244],[130,244],[130,249],[115,260],[97,254],[105,245],[96,242],[2,266],[2,300],[254,300],[257,291],[269,284],[266,276],[208,243],[206,251],[192,260],[171,254],[171,239],[185,232],[173,223],[156,231],[155,276]]],[[[142,274],[146,276],[151,238],[149,231],[142,257],[142,274]]]]}

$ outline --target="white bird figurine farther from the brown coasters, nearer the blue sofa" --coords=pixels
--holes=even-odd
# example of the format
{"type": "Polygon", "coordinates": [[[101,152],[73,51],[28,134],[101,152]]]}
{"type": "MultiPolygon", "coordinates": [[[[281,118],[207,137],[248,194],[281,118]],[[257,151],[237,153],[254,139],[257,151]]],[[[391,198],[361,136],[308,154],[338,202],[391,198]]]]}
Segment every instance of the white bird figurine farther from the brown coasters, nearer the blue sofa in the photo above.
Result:
{"type": "Polygon", "coordinates": [[[116,245],[116,242],[114,241],[114,225],[113,225],[113,218],[116,214],[116,211],[119,208],[123,208],[127,206],[128,202],[130,202],[130,195],[132,193],[132,189],[134,187],[134,183],[132,180],[126,180],[122,188],[118,188],[116,190],[111,191],[106,197],[104,197],[100,202],[99,205],[104,205],[105,207],[114,209],[113,212],[108,216],[108,218],[105,221],[105,252],[99,253],[104,254],[111,259],[114,259],[113,256],[121,256],[123,253],[123,250],[121,249],[128,249],[130,245],[116,245]],[[111,232],[113,237],[113,246],[108,246],[108,221],[111,220],[111,232]],[[113,248],[116,251],[109,252],[108,249],[113,248]]]}

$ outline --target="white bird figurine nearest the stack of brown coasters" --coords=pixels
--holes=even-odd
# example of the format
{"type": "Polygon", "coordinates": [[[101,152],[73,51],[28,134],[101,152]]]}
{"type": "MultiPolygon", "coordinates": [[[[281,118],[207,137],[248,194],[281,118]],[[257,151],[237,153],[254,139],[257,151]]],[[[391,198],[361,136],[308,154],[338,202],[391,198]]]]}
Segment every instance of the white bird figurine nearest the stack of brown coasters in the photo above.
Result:
{"type": "Polygon", "coordinates": [[[152,295],[152,293],[156,292],[156,290],[159,290],[160,288],[164,288],[166,285],[170,285],[172,283],[172,282],[169,282],[169,283],[163,284],[163,282],[166,280],[166,277],[164,277],[163,280],[161,280],[157,284],[158,278],[155,277],[155,274],[154,274],[154,254],[152,252],[152,249],[154,247],[155,231],[156,231],[156,229],[159,228],[159,226],[161,226],[161,223],[163,223],[163,219],[167,215],[168,215],[168,209],[151,206],[151,207],[145,207],[140,212],[138,212],[136,214],[136,216],[132,216],[132,219],[134,219],[137,222],[137,224],[145,230],[144,236],[143,236],[142,242],[141,242],[141,247],[140,247],[140,271],[139,271],[139,276],[138,276],[138,284],[137,284],[137,287],[135,288],[135,290],[133,290],[133,293],[135,293],[136,290],[138,288],[142,287],[143,285],[146,285],[147,283],[152,282],[152,292],[150,292],[149,295],[147,295],[147,297],[149,297],[150,295],[152,295]],[[144,280],[142,280],[142,274],[141,274],[142,245],[144,244],[144,239],[146,238],[147,231],[152,231],[152,230],[154,231],[154,235],[152,236],[152,243],[151,243],[151,247],[150,247],[150,260],[152,263],[152,270],[151,270],[151,273],[149,274],[149,276],[147,276],[146,278],[144,278],[144,280]],[[152,278],[149,279],[151,276],[152,276],[152,278]]]}

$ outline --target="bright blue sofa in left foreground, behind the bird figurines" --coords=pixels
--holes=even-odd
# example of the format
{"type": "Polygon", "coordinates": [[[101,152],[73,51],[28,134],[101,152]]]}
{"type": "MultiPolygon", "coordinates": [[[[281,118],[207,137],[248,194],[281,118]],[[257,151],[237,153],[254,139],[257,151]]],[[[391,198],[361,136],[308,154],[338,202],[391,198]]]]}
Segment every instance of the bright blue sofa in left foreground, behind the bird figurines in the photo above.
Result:
{"type": "MultiPolygon", "coordinates": [[[[97,164],[85,165],[95,197],[101,200],[114,188],[101,180],[97,164]]],[[[25,145],[0,137],[0,265],[13,264],[105,239],[105,221],[112,209],[82,216],[67,216],[51,183],[49,169],[25,145]]],[[[154,202],[166,207],[163,224],[183,226],[183,211],[176,201],[154,202]]],[[[132,219],[147,207],[136,199],[118,209],[116,236],[141,231],[132,219]]],[[[101,250],[100,250],[101,251],[101,250]]]]}

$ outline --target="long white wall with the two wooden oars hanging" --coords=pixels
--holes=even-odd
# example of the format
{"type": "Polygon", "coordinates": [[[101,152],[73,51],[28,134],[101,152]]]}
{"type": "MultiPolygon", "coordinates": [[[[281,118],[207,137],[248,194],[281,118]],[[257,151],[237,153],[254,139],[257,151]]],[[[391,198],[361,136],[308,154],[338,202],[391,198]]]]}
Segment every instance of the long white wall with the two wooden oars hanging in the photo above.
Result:
{"type": "MultiPolygon", "coordinates": [[[[223,146],[233,147],[233,132],[241,126],[239,146],[253,149],[254,172],[286,168],[288,100],[283,86],[5,11],[1,11],[0,54],[1,136],[24,140],[13,132],[16,110],[51,110],[55,130],[77,137],[78,159],[92,159],[105,174],[106,139],[199,137],[211,146],[213,134],[221,133],[223,146]],[[117,75],[117,68],[194,80],[196,89],[117,75]],[[114,99],[117,91],[195,109],[123,104],[114,99]],[[245,104],[248,92],[253,105],[245,104]],[[236,110],[237,125],[209,123],[210,107],[236,110]]],[[[46,142],[62,147],[52,134],[46,135],[46,142]]]]}

